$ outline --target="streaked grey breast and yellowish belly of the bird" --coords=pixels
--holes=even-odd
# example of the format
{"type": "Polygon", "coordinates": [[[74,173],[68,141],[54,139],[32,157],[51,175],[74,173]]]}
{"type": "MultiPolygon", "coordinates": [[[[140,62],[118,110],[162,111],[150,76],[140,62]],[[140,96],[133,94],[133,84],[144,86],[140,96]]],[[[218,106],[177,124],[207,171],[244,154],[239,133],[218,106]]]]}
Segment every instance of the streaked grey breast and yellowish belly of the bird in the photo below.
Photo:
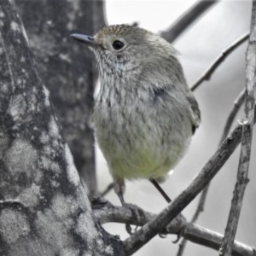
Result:
{"type": "Polygon", "coordinates": [[[102,93],[94,109],[96,139],[113,176],[166,175],[189,144],[186,123],[155,106],[147,91],[102,93]]]}

